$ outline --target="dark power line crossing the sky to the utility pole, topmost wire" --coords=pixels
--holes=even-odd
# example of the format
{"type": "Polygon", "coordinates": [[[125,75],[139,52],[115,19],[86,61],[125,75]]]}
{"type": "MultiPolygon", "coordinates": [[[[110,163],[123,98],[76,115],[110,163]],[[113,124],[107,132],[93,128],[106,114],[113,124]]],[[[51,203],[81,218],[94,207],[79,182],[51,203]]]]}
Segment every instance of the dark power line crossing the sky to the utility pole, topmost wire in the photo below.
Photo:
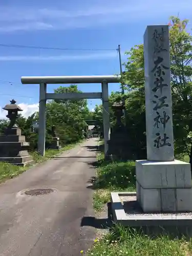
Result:
{"type": "Polygon", "coordinates": [[[41,47],[41,46],[24,46],[24,45],[7,45],[0,44],[0,47],[14,47],[14,48],[31,48],[44,50],[62,50],[62,51],[117,51],[117,49],[83,49],[83,48],[58,48],[58,47],[41,47]]]}

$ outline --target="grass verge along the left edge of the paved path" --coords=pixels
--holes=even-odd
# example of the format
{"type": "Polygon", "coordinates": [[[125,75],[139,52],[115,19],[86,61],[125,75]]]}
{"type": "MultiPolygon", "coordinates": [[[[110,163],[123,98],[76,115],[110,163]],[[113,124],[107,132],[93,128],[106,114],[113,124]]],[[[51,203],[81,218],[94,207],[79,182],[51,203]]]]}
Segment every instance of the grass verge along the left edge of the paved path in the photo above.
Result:
{"type": "Polygon", "coordinates": [[[61,150],[59,150],[59,151],[58,150],[52,150],[52,149],[46,150],[44,157],[40,156],[37,152],[30,152],[29,154],[33,158],[33,163],[29,164],[29,165],[26,165],[24,167],[17,166],[17,165],[14,165],[14,164],[10,164],[10,163],[0,162],[0,183],[4,182],[7,179],[12,179],[12,178],[18,176],[19,174],[25,172],[27,169],[29,169],[31,166],[33,166],[37,163],[44,162],[48,159],[53,158],[54,156],[56,156],[58,154],[61,154],[62,152],[70,150],[75,145],[77,145],[81,142],[82,141],[74,143],[74,144],[66,145],[66,146],[62,147],[61,150]]]}

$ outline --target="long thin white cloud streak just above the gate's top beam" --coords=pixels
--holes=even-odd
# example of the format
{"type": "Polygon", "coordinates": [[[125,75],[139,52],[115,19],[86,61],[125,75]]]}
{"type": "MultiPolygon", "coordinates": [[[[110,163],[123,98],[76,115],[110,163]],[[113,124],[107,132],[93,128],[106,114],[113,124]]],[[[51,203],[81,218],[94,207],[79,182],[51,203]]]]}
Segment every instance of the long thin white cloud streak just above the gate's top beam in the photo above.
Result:
{"type": "Polygon", "coordinates": [[[33,55],[10,55],[0,56],[0,61],[70,61],[70,60],[89,60],[89,59],[108,59],[116,58],[116,51],[99,52],[80,55],[53,55],[53,56],[33,56],[33,55]]]}

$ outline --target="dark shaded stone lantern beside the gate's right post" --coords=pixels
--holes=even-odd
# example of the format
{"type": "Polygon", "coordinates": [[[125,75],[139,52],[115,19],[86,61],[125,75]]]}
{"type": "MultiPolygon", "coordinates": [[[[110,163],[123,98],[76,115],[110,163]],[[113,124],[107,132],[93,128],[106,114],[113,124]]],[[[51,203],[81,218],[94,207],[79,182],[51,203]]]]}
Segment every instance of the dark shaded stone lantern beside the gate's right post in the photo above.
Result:
{"type": "Polygon", "coordinates": [[[126,132],[126,127],[121,121],[123,110],[125,109],[123,102],[114,102],[112,110],[116,117],[116,124],[114,125],[110,140],[108,141],[109,149],[108,155],[112,159],[129,159],[129,139],[126,132]]]}

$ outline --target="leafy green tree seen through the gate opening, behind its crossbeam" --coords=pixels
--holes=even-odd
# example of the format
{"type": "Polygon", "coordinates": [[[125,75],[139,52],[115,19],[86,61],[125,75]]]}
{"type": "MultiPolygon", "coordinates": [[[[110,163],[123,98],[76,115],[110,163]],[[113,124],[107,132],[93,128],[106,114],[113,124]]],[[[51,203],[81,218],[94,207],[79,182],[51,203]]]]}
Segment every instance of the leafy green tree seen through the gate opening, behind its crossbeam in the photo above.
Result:
{"type": "MultiPolygon", "coordinates": [[[[55,93],[81,93],[77,86],[59,87],[55,93]]],[[[82,138],[82,130],[86,129],[85,120],[89,118],[86,99],[53,100],[47,104],[47,127],[55,125],[61,143],[70,143],[82,138]]],[[[48,135],[47,135],[48,137],[48,135]]]]}

